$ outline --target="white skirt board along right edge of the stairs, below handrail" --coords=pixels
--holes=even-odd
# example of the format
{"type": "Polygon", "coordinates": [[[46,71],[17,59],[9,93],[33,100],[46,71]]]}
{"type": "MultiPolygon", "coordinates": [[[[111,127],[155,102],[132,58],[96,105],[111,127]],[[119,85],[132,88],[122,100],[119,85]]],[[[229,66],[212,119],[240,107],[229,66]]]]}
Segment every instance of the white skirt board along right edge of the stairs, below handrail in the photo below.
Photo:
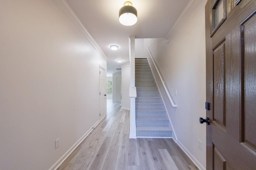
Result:
{"type": "MultiPolygon", "coordinates": [[[[165,109],[166,114],[167,114],[167,117],[168,117],[168,119],[169,119],[169,127],[171,127],[171,129],[172,129],[172,139],[176,142],[176,133],[175,133],[175,130],[173,129],[172,121],[171,121],[171,119],[170,119],[170,116],[169,116],[169,113],[168,113],[168,109],[166,108],[166,102],[164,101],[162,92],[161,92],[161,90],[160,90],[160,88],[159,88],[160,83],[162,84],[162,82],[161,82],[161,81],[158,81],[158,79],[156,79],[156,75],[157,75],[157,76],[159,76],[159,75],[158,75],[158,73],[157,73],[156,70],[153,71],[153,69],[152,69],[152,65],[154,66],[154,64],[152,64],[152,61],[151,61],[152,59],[149,59],[149,58],[147,58],[147,59],[148,59],[148,63],[149,63],[149,66],[150,66],[150,70],[151,70],[151,72],[152,72],[152,74],[153,74],[153,77],[154,77],[154,79],[155,79],[156,86],[157,86],[157,88],[158,88],[158,92],[159,92],[159,94],[160,94],[160,96],[161,96],[161,98],[162,98],[162,102],[163,102],[163,104],[164,104],[164,109],[165,109]],[[151,62],[150,62],[150,61],[151,61],[151,62]]],[[[154,68],[155,68],[155,66],[154,66],[154,68]]],[[[155,69],[156,69],[156,68],[155,68],[155,69]]]]}

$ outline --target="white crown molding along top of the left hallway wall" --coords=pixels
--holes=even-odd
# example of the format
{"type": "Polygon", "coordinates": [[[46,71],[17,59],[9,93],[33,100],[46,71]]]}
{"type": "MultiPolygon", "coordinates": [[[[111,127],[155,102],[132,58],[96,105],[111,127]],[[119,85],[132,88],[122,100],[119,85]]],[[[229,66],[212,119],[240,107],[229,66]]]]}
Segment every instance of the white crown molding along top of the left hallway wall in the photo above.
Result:
{"type": "Polygon", "coordinates": [[[95,39],[90,35],[89,31],[82,24],[78,16],[74,13],[74,11],[69,6],[66,0],[52,0],[55,4],[60,8],[60,10],[64,13],[64,15],[73,23],[73,25],[82,33],[82,35],[89,41],[89,43],[96,49],[96,51],[102,56],[102,58],[107,61],[108,57],[104,53],[104,51],[100,48],[95,39]]]}

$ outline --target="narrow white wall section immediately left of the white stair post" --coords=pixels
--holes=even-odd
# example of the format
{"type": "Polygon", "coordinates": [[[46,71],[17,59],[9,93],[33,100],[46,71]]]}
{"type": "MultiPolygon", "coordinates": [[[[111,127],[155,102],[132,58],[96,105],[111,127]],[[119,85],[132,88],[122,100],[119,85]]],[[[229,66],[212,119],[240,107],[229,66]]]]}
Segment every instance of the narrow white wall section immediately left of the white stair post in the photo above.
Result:
{"type": "Polygon", "coordinates": [[[121,65],[122,67],[122,109],[130,110],[130,76],[131,76],[131,66],[130,63],[121,65]]]}

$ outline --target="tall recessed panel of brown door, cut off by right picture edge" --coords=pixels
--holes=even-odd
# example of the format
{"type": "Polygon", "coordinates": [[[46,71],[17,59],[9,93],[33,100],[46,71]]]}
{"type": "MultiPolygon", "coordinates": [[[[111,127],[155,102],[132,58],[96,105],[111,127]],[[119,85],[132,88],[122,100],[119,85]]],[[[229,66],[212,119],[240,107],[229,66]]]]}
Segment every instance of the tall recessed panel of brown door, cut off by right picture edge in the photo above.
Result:
{"type": "Polygon", "coordinates": [[[244,44],[244,142],[256,150],[256,15],[242,27],[244,44]],[[254,86],[252,86],[254,84],[254,86]]]}

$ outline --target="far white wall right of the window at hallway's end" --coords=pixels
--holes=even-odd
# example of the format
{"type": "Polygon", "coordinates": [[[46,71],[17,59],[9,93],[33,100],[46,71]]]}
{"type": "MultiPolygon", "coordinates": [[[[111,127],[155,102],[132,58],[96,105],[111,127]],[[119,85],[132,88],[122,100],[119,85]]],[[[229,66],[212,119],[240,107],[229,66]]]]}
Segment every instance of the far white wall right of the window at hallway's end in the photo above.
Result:
{"type": "Polygon", "coordinates": [[[116,78],[121,78],[121,77],[122,77],[121,72],[113,73],[113,77],[112,77],[112,100],[113,100],[113,102],[121,102],[121,98],[120,98],[121,92],[118,91],[118,94],[117,94],[117,90],[121,87],[121,82],[116,80],[116,78]],[[118,88],[117,88],[117,86],[118,86],[118,88]]]}

